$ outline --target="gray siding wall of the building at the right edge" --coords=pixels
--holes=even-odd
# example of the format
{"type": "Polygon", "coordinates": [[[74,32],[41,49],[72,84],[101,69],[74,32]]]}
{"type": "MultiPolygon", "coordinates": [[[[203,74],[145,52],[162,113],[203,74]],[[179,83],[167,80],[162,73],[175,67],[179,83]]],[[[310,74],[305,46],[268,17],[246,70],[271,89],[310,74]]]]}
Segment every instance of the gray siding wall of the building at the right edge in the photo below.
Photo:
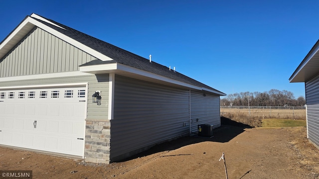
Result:
{"type": "Polygon", "coordinates": [[[308,137],[319,146],[319,75],[305,83],[308,137]]]}

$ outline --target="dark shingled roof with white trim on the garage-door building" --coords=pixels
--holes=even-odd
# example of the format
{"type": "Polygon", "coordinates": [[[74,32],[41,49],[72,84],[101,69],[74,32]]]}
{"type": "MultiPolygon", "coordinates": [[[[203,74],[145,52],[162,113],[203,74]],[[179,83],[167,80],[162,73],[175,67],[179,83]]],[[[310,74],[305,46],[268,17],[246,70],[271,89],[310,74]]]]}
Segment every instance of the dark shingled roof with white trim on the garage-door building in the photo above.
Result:
{"type": "Polygon", "coordinates": [[[34,13],[27,16],[0,43],[0,58],[13,48],[34,26],[38,26],[56,35],[62,40],[77,46],[97,58],[96,60],[80,65],[80,72],[91,74],[129,73],[130,75],[127,76],[144,76],[165,83],[205,90],[218,95],[226,95],[217,89],[213,89],[176,71],[169,71],[169,68],[154,61],[150,63],[146,58],[34,13]]]}

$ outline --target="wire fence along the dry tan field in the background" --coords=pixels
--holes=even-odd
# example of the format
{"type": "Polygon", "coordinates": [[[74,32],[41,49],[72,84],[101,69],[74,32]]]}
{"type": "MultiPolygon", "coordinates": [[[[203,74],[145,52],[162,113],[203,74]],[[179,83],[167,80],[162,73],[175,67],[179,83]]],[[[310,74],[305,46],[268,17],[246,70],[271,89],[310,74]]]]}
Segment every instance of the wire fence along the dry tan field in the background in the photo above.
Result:
{"type": "Polygon", "coordinates": [[[278,119],[306,119],[305,106],[220,106],[220,114],[278,118],[278,119]]]}

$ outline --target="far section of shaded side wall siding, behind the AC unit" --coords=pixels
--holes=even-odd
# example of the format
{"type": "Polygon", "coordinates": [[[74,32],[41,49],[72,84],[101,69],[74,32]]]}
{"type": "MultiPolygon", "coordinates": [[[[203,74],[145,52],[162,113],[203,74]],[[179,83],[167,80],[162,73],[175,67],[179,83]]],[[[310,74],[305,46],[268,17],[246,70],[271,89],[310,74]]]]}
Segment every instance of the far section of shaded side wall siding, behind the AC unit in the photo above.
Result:
{"type": "Polygon", "coordinates": [[[219,96],[202,92],[190,92],[190,124],[191,132],[197,133],[198,124],[212,124],[220,127],[219,96]],[[197,121],[198,119],[198,121],[197,121]]]}

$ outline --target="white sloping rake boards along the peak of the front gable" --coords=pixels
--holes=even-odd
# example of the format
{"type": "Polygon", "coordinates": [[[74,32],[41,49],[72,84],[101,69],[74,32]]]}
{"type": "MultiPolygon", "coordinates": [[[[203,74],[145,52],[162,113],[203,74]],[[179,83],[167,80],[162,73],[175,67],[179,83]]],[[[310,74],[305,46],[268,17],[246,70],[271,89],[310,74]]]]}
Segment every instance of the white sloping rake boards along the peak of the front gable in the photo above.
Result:
{"type": "MultiPolygon", "coordinates": [[[[33,18],[38,18],[39,20],[43,20],[45,22],[48,22],[50,24],[53,24],[59,28],[59,25],[54,24],[36,14],[31,14],[31,16],[33,18]]],[[[102,60],[102,61],[109,61],[109,60],[113,60],[112,58],[64,35],[61,32],[58,32],[50,27],[48,27],[47,25],[33,19],[30,16],[27,16],[10,34],[9,36],[6,37],[6,39],[0,44],[0,58],[2,58],[6,53],[9,52],[9,50],[11,50],[34,26],[37,26],[51,34],[53,34],[54,36],[66,41],[67,43],[72,44],[73,46],[85,51],[86,53],[102,60]]],[[[64,29],[64,28],[62,28],[64,29]]]]}

